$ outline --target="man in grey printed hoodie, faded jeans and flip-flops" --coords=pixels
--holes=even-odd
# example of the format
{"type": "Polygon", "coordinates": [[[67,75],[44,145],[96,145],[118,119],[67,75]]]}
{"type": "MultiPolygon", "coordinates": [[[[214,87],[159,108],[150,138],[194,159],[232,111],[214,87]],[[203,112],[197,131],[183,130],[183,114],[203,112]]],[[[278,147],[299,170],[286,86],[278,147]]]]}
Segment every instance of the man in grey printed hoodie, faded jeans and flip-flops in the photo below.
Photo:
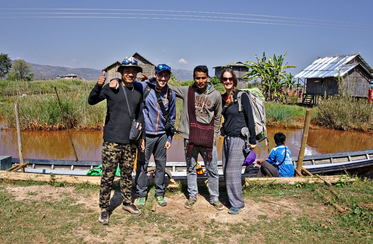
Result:
{"type": "Polygon", "coordinates": [[[210,204],[217,210],[224,208],[219,201],[219,175],[217,173],[217,152],[215,138],[220,128],[222,98],[220,92],[208,84],[209,70],[206,66],[197,66],[193,71],[192,86],[169,87],[176,97],[183,99],[179,136],[184,137],[186,160],[186,178],[189,199],[184,207],[191,209],[197,200],[197,158],[204,160],[208,175],[210,204]]]}

